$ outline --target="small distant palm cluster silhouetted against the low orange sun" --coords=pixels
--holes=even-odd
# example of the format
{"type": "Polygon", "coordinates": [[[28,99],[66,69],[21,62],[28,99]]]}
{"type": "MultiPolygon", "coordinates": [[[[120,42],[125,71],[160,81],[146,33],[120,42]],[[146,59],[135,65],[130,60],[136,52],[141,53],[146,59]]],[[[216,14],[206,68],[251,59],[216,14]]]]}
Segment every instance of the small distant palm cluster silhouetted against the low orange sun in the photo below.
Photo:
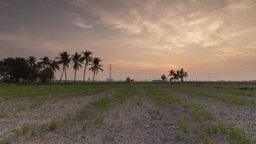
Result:
{"type": "MultiPolygon", "coordinates": [[[[179,82],[179,79],[181,80],[181,82],[184,81],[184,78],[185,78],[185,81],[188,77],[188,72],[185,72],[183,68],[181,68],[180,70],[177,70],[177,71],[174,71],[174,70],[171,70],[169,71],[169,74],[168,76],[170,76],[170,82],[172,82],[174,80],[177,80],[179,82]]],[[[163,82],[165,80],[167,80],[167,77],[165,74],[161,75],[161,79],[163,80],[163,82]]]]}

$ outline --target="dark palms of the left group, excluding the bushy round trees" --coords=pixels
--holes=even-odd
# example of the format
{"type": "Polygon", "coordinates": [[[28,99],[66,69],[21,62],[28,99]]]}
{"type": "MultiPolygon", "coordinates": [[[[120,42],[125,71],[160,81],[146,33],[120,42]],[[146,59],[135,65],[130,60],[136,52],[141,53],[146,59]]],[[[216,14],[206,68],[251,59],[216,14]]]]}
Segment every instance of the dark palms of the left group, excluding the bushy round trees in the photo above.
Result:
{"type": "MultiPolygon", "coordinates": [[[[73,70],[74,70],[74,83],[76,82],[76,71],[78,71],[80,68],[82,68],[82,64],[85,62],[84,72],[83,72],[83,83],[85,78],[85,71],[88,65],[92,65],[92,67],[89,69],[93,72],[93,79],[92,83],[94,81],[95,73],[98,74],[99,70],[103,71],[101,68],[102,65],[100,64],[101,59],[98,57],[91,57],[92,52],[85,51],[81,52],[81,54],[78,54],[77,52],[70,56],[70,54],[67,53],[67,51],[63,51],[63,53],[59,53],[59,57],[56,57],[54,60],[51,60],[49,57],[45,56],[43,58],[40,58],[42,60],[41,62],[38,62],[37,65],[40,65],[43,69],[45,68],[51,68],[54,72],[56,70],[60,70],[60,65],[62,66],[62,74],[61,78],[58,82],[62,80],[63,74],[65,73],[65,82],[67,82],[67,74],[66,69],[69,68],[69,65],[73,64],[73,70]]],[[[29,65],[36,65],[37,59],[34,56],[29,56],[27,58],[27,63],[29,65]]]]}

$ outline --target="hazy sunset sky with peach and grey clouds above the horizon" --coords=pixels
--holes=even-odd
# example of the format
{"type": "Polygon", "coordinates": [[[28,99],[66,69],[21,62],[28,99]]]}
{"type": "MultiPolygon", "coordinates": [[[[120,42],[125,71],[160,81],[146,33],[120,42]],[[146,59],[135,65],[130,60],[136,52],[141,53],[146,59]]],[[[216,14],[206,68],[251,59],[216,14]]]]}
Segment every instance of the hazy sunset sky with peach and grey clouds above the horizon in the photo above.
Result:
{"type": "Polygon", "coordinates": [[[0,0],[0,60],[85,50],[102,60],[97,80],[109,64],[115,80],[256,80],[256,0],[0,0]]]}

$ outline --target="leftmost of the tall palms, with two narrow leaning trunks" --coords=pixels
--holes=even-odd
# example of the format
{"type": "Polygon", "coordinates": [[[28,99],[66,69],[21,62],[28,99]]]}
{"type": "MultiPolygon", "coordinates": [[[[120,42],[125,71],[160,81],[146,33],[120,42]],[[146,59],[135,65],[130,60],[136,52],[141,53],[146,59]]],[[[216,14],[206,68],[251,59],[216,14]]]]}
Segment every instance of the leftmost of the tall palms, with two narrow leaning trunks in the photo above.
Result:
{"type": "MultiPolygon", "coordinates": [[[[70,55],[67,54],[67,51],[65,51],[65,52],[63,51],[63,53],[59,53],[59,54],[60,54],[60,57],[56,57],[56,59],[59,59],[58,63],[62,64],[63,72],[65,71],[65,82],[67,82],[66,68],[68,68],[68,66],[71,62],[71,59],[69,58],[70,55]]],[[[60,81],[62,79],[63,72],[61,74],[60,81]]]]}

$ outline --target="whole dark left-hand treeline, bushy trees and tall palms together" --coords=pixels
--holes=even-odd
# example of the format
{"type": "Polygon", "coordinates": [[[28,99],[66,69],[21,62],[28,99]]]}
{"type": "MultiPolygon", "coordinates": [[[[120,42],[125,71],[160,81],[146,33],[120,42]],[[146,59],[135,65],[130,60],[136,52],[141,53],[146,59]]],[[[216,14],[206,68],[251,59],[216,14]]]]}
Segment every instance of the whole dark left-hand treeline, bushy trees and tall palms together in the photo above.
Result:
{"type": "Polygon", "coordinates": [[[99,70],[103,71],[100,64],[101,59],[98,57],[91,57],[92,52],[85,51],[78,54],[77,52],[70,56],[66,51],[59,53],[59,57],[56,57],[54,60],[51,60],[49,57],[44,56],[37,58],[34,56],[29,56],[27,58],[4,58],[0,61],[0,79],[4,82],[50,82],[55,78],[55,72],[61,71],[61,78],[58,82],[62,80],[63,74],[65,73],[65,82],[67,82],[66,69],[69,68],[69,65],[73,64],[74,70],[74,83],[76,78],[76,71],[82,68],[82,64],[85,63],[84,72],[83,72],[83,83],[85,78],[85,71],[88,65],[92,65],[89,70],[93,72],[94,81],[95,73],[98,74],[99,70]]]}

